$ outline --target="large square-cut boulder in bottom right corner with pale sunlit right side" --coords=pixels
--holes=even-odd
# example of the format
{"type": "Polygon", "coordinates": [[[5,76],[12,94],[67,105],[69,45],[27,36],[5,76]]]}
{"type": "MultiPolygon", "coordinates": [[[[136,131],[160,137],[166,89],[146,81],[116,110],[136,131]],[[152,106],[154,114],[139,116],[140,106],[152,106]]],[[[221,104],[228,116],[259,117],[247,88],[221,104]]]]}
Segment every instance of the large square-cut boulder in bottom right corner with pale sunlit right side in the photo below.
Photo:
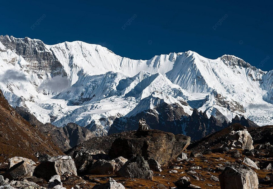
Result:
{"type": "Polygon", "coordinates": [[[219,175],[221,189],[258,189],[257,174],[245,165],[227,166],[219,175]]]}

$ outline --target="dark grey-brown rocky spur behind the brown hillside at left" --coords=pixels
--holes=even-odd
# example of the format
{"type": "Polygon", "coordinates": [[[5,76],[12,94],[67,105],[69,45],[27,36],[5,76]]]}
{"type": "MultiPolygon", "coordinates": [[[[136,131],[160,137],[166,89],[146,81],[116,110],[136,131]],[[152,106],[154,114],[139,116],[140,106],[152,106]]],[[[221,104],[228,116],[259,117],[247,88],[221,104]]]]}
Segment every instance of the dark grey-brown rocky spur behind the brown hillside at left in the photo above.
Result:
{"type": "Polygon", "coordinates": [[[85,127],[80,127],[75,123],[68,123],[64,127],[56,127],[50,123],[41,123],[24,107],[17,107],[16,111],[33,127],[37,128],[42,133],[45,133],[46,137],[50,137],[63,151],[69,150],[70,148],[95,137],[95,134],[90,130],[85,127]]]}

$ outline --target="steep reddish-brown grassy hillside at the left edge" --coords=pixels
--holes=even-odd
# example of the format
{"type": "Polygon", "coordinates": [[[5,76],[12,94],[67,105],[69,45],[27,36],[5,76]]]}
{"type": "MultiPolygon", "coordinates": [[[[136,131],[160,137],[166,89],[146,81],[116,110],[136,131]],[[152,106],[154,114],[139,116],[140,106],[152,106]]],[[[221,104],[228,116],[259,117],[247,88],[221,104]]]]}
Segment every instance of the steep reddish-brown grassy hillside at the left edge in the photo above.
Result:
{"type": "Polygon", "coordinates": [[[0,90],[0,162],[15,156],[37,160],[36,152],[63,154],[51,139],[33,128],[8,104],[0,90]],[[20,145],[20,146],[19,146],[20,145]]]}

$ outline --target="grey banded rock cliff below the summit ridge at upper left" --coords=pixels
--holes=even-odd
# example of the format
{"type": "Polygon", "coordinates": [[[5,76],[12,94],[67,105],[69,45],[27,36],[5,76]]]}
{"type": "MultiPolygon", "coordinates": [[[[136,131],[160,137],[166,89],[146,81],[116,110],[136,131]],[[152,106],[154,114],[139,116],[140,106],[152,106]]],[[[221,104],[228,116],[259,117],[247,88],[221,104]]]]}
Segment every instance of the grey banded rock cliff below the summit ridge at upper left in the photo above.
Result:
{"type": "Polygon", "coordinates": [[[16,39],[13,36],[1,35],[0,42],[31,63],[28,69],[32,72],[49,72],[52,76],[67,75],[54,53],[47,49],[41,40],[29,39],[28,37],[16,39]]]}

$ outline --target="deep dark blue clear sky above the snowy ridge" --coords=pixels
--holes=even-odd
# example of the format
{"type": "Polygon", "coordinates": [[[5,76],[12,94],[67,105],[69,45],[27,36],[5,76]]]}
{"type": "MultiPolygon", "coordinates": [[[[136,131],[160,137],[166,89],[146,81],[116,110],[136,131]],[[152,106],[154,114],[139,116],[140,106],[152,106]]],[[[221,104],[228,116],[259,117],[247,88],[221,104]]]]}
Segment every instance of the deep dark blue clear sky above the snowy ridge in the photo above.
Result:
{"type": "Polygon", "coordinates": [[[132,59],[187,50],[211,59],[231,54],[254,66],[267,58],[260,67],[267,71],[273,69],[272,5],[269,0],[2,1],[0,34],[46,44],[80,40],[132,59]]]}

